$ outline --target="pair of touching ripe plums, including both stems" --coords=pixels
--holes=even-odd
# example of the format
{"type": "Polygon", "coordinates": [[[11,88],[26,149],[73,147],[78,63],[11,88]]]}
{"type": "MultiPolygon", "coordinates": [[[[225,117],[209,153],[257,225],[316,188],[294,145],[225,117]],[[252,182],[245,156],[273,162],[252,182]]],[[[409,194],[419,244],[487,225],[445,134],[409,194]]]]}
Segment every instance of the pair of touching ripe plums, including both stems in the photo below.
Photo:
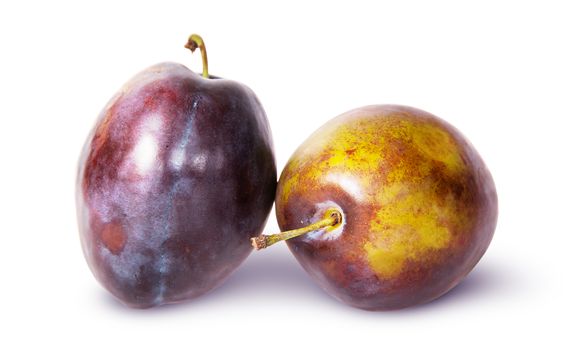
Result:
{"type": "MultiPolygon", "coordinates": [[[[274,200],[270,129],[241,84],[163,63],[103,110],[80,160],[82,246],[97,279],[134,307],[211,290],[251,251],[274,200]]],[[[434,299],[493,235],[490,173],[466,139],[417,109],[369,106],[317,130],[278,184],[278,235],[330,294],[364,309],[434,299]]]]}

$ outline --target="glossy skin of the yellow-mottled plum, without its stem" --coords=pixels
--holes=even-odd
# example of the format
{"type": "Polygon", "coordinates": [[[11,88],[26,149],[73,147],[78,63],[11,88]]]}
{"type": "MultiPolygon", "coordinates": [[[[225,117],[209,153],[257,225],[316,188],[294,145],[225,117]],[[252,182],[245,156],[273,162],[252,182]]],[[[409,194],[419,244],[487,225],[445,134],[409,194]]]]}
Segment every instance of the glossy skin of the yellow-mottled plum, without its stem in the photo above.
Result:
{"type": "Polygon", "coordinates": [[[453,126],[418,109],[358,108],[302,144],[276,194],[282,230],[343,222],[288,240],[304,269],[338,300],[366,310],[400,309],[456,286],[492,239],[494,182],[453,126]]]}

